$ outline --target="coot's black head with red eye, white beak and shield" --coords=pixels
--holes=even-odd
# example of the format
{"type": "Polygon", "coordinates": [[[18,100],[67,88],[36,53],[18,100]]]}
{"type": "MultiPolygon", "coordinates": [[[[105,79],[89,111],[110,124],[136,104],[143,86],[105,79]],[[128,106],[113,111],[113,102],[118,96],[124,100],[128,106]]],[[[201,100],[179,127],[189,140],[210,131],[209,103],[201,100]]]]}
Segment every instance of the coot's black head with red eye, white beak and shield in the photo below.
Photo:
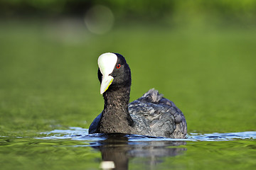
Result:
{"type": "Polygon", "coordinates": [[[126,60],[118,53],[107,52],[98,58],[100,94],[107,89],[115,90],[131,86],[131,70],[126,60]]]}

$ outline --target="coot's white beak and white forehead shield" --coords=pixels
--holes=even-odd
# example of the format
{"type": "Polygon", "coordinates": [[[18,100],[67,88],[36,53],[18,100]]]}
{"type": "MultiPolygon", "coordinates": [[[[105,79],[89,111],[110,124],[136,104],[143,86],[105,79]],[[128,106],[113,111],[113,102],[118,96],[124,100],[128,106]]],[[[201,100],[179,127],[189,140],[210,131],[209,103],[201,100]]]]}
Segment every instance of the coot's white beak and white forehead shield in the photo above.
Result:
{"type": "Polygon", "coordinates": [[[110,76],[117,64],[117,55],[111,52],[104,53],[98,58],[98,65],[102,73],[102,83],[100,85],[100,94],[103,94],[109,88],[114,77],[110,76]]]}

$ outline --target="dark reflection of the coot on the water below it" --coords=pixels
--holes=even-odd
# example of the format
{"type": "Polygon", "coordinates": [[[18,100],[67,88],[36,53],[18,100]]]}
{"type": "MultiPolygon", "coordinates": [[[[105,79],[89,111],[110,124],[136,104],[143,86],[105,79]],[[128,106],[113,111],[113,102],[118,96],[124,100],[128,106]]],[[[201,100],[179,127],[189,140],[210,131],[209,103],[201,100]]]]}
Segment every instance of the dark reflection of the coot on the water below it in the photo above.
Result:
{"type": "MultiPolygon", "coordinates": [[[[128,169],[129,159],[132,157],[148,157],[146,164],[154,166],[161,161],[161,157],[172,157],[181,154],[186,148],[171,147],[186,145],[184,141],[129,141],[127,135],[112,134],[106,135],[105,140],[97,142],[93,148],[99,149],[102,154],[102,161],[114,162],[115,169],[128,169]]],[[[105,164],[102,164],[104,166],[105,164]]],[[[104,168],[104,167],[102,167],[104,168]]],[[[107,167],[106,167],[107,168],[107,167]]]]}

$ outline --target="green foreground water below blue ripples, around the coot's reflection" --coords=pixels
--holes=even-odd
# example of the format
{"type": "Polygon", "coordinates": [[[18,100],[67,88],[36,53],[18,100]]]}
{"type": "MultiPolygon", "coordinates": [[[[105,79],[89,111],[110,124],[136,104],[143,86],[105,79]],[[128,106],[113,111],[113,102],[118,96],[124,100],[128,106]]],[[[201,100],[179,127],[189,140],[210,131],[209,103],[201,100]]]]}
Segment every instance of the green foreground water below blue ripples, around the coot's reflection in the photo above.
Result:
{"type": "MultiPolygon", "coordinates": [[[[142,145],[144,149],[128,147],[125,153],[120,149],[127,146],[119,143],[114,151],[119,156],[127,155],[129,169],[254,169],[256,165],[253,140],[186,142],[178,147],[162,146],[162,143],[142,145]],[[132,151],[145,153],[146,149],[150,149],[150,155],[132,154],[132,151]],[[174,155],[167,152],[159,155],[163,149],[174,155]]],[[[100,151],[87,147],[85,141],[9,137],[1,139],[0,150],[1,169],[98,169],[102,162],[100,151]]]]}

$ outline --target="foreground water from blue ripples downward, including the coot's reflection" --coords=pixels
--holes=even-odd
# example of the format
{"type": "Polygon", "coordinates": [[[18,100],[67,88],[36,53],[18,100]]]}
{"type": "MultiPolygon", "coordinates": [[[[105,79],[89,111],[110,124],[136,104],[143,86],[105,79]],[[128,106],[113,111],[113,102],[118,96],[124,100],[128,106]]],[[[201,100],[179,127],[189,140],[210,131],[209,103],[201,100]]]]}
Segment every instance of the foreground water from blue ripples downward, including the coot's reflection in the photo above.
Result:
{"type": "Polygon", "coordinates": [[[253,169],[256,132],[189,134],[187,139],[88,134],[87,129],[1,137],[4,169],[253,169]]]}

